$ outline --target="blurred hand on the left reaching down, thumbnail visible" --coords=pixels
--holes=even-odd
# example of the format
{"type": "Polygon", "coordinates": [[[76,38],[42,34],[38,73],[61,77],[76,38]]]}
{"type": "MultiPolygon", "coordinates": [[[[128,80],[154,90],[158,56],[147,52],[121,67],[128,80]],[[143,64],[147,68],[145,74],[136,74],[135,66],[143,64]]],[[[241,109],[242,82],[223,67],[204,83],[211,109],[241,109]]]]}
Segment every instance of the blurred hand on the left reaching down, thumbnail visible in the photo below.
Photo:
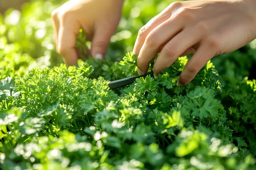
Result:
{"type": "Polygon", "coordinates": [[[75,45],[80,28],[86,33],[86,41],[92,41],[91,55],[103,59],[120,21],[123,2],[69,0],[52,12],[54,42],[67,65],[75,65],[79,58],[75,45]]]}

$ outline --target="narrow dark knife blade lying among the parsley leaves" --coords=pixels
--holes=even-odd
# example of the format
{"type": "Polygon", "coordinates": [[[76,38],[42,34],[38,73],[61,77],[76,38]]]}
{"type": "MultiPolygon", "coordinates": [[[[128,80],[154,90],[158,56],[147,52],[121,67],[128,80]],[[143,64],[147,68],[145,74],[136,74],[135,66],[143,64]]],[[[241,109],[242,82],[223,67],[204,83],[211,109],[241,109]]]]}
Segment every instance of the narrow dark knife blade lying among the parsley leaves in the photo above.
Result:
{"type": "Polygon", "coordinates": [[[142,75],[142,76],[139,75],[139,76],[133,76],[133,77],[128,77],[128,78],[123,78],[123,79],[120,79],[120,80],[111,81],[108,84],[109,90],[132,84],[136,80],[136,78],[146,77],[148,75],[153,76],[153,72],[148,72],[147,74],[142,75]]]}

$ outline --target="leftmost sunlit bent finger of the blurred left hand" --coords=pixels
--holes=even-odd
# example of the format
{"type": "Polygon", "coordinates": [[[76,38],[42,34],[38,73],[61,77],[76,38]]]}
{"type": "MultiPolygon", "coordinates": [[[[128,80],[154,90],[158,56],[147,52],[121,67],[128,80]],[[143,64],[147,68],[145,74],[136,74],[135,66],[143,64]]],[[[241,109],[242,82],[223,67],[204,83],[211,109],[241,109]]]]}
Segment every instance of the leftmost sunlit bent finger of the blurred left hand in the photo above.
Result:
{"type": "Polygon", "coordinates": [[[68,16],[60,17],[57,51],[62,55],[67,65],[76,65],[76,36],[79,34],[79,24],[68,16]]]}

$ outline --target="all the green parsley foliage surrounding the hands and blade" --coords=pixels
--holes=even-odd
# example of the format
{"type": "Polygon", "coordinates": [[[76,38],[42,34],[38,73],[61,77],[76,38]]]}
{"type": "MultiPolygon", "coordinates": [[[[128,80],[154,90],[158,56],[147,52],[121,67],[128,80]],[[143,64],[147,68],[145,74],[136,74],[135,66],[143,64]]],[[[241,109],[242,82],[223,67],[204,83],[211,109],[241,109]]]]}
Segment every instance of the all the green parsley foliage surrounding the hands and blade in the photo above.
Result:
{"type": "MultiPolygon", "coordinates": [[[[245,77],[255,41],[213,58],[184,87],[176,83],[187,56],[156,79],[109,90],[109,81],[137,75],[137,57],[121,56],[173,0],[125,1],[106,59],[69,67],[52,41],[50,13],[62,2],[33,0],[20,18],[12,9],[0,16],[0,169],[256,168],[256,81],[245,77]],[[8,22],[15,15],[17,23],[8,22]]],[[[86,46],[81,31],[81,56],[86,46]]]]}

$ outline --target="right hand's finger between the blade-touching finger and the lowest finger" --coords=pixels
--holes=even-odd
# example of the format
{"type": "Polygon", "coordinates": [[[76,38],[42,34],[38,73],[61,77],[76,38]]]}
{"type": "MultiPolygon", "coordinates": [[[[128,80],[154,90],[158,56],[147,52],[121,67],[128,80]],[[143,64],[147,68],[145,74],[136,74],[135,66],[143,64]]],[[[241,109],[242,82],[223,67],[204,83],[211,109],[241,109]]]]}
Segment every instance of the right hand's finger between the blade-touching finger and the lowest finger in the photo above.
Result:
{"type": "Polygon", "coordinates": [[[188,48],[197,44],[201,39],[200,32],[192,28],[185,28],[169,41],[154,63],[154,75],[157,76],[162,69],[170,67],[177,58],[188,48]],[[193,34],[192,34],[193,33],[193,34]]]}

